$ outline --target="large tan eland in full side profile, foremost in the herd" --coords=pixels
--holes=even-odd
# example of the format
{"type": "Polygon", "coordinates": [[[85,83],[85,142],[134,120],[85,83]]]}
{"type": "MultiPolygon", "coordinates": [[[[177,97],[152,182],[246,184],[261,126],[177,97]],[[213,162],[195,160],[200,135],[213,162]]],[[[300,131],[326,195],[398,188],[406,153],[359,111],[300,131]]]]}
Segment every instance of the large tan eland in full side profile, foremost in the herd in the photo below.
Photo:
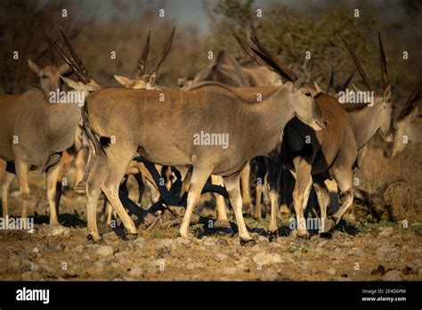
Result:
{"type": "MultiPolygon", "coordinates": [[[[270,65],[281,74],[275,64],[270,65]]],[[[233,88],[204,82],[186,91],[110,87],[90,94],[83,118],[95,147],[86,182],[88,233],[93,241],[101,240],[95,211],[101,192],[118,212],[128,236],[136,234],[134,221],[118,198],[120,181],[136,152],[152,163],[192,166],[182,237],[189,235],[192,212],[207,178],[221,175],[234,208],[240,241],[253,241],[241,210],[240,171],[248,159],[276,147],[291,118],[296,116],[315,130],[325,126],[303,83],[304,78],[299,78],[282,86],[233,88]],[[194,143],[200,132],[228,135],[230,146],[194,143]],[[110,136],[115,139],[111,141],[110,136]]]]}

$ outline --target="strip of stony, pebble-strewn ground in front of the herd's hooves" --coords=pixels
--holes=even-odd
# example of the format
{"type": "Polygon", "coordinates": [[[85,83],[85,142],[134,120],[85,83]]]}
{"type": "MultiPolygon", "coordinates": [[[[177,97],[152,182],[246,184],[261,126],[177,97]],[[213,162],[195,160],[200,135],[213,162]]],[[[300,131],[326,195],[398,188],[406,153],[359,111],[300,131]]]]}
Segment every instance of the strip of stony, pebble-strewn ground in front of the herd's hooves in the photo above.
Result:
{"type": "MultiPolygon", "coordinates": [[[[250,221],[249,221],[250,224],[250,221]]],[[[125,241],[106,232],[90,244],[85,228],[37,224],[32,233],[0,232],[2,280],[422,280],[420,225],[339,230],[330,239],[280,236],[240,246],[234,236],[176,238],[177,229],[125,241]],[[365,232],[367,231],[367,232],[365,232]]],[[[192,232],[200,232],[199,225],[192,232]]]]}

